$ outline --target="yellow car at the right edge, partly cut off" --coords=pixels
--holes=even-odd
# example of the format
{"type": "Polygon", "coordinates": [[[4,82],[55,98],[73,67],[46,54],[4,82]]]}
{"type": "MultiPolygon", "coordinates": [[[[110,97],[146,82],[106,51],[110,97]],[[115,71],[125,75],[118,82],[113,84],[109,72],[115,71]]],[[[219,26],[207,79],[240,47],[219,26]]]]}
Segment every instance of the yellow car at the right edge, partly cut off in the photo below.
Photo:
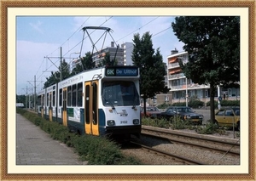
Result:
{"type": "Polygon", "coordinates": [[[240,108],[224,108],[215,114],[215,122],[218,126],[233,127],[240,130],[240,108]]]}

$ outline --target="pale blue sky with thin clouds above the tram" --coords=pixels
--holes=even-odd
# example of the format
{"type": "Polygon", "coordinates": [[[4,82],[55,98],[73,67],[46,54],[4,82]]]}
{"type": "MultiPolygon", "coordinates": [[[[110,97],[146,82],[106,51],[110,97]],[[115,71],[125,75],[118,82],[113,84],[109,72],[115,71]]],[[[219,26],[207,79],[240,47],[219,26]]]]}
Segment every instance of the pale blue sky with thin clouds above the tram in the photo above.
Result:
{"type": "Polygon", "coordinates": [[[17,16],[16,17],[16,94],[34,93],[36,76],[37,92],[44,88],[46,77],[57,71],[60,56],[69,63],[96,48],[132,42],[134,34],[140,37],[147,31],[152,35],[153,48],[160,48],[163,62],[171,50],[183,52],[183,42],[179,42],[172,31],[173,16],[17,16]],[[111,28],[104,31],[88,30],[82,40],[84,26],[103,26],[111,28]],[[102,37],[103,35],[103,37],[102,37]],[[90,41],[91,38],[91,41],[90,41]],[[62,50],[62,52],[61,52],[62,50]],[[26,92],[27,91],[27,92],[26,92]]]}

